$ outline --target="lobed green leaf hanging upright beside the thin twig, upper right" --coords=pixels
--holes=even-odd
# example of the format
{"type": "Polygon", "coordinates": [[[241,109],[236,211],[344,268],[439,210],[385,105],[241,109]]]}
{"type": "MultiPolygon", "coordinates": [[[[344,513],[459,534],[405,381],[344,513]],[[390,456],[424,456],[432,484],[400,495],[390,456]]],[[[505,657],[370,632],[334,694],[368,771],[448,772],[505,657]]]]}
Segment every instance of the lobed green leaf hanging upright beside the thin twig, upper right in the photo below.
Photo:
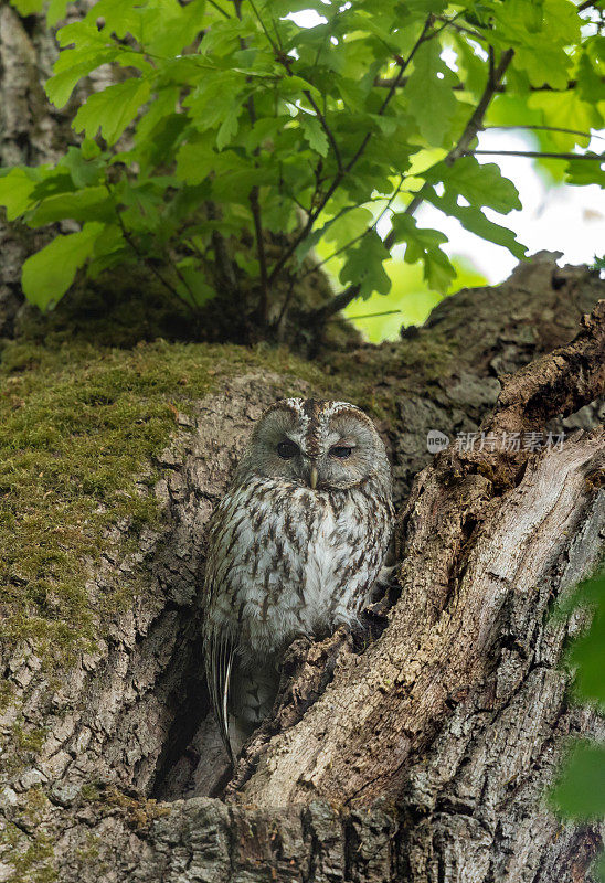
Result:
{"type": "Polygon", "coordinates": [[[452,72],[439,53],[437,40],[424,43],[414,55],[414,70],[405,86],[408,108],[421,135],[436,147],[444,143],[457,105],[452,72]]]}

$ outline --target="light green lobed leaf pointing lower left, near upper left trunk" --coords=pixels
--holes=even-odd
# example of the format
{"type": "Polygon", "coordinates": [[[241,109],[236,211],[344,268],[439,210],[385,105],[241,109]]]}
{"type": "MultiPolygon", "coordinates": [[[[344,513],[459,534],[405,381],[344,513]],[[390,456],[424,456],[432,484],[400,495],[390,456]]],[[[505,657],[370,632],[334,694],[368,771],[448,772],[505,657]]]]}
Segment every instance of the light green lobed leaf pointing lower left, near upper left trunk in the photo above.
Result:
{"type": "Polygon", "coordinates": [[[77,111],[73,127],[75,131],[85,131],[88,138],[94,138],[100,128],[107,143],[113,145],[135,119],[150,92],[147,79],[135,77],[107,86],[103,92],[89,96],[77,111]]]}

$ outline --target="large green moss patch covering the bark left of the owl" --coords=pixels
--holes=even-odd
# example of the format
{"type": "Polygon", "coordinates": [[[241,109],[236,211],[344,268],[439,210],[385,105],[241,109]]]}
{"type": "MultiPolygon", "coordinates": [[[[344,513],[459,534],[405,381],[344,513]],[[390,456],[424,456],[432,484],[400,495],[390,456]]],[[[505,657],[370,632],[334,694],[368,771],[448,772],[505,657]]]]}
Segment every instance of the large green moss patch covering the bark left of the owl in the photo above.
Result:
{"type": "Polygon", "coordinates": [[[127,602],[121,586],[91,603],[86,578],[108,528],[135,538],[158,519],[155,457],[176,414],[235,373],[274,371],[316,389],[321,372],[286,350],[139,343],[10,343],[0,365],[0,640],[31,640],[45,662],[89,649],[99,624],[127,602]],[[135,483],[135,482],[138,483],[135,483]],[[120,596],[121,592],[121,596],[120,596]]]}

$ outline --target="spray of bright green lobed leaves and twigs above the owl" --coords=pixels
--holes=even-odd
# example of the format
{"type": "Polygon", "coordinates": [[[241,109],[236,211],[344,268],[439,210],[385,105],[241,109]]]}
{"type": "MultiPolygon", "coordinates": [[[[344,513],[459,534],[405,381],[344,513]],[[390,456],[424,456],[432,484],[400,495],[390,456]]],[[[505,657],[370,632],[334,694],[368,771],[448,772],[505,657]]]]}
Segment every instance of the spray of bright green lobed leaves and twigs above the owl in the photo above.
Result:
{"type": "MultiPolygon", "coordinates": [[[[43,0],[12,3],[35,12],[43,0]]],[[[513,232],[482,212],[520,203],[495,163],[477,161],[488,151],[475,139],[497,125],[551,132],[544,151],[489,153],[555,157],[569,162],[572,183],[603,181],[602,158],[574,152],[603,124],[602,36],[581,14],[596,4],[564,21],[559,0],[539,15],[521,4],[514,22],[500,0],[465,2],[456,14],[431,6],[427,15],[422,3],[382,0],[360,14],[327,2],[319,28],[297,24],[288,0],[189,0],[162,4],[161,14],[156,0],[124,0],[104,4],[103,19],[94,8],[72,17],[57,34],[49,98],[65,106],[99,67],[115,77],[78,108],[76,143],[54,167],[0,170],[10,222],[82,226],[25,262],[26,296],[49,308],[78,268],[95,275],[132,255],[171,297],[199,309],[215,296],[225,315],[238,304],[243,326],[274,336],[269,316],[284,326],[296,283],[314,272],[293,257],[326,241],[329,257],[315,269],[343,256],[343,290],[304,317],[317,326],[354,297],[389,291],[383,265],[396,243],[406,263],[422,263],[427,286],[448,290],[446,237],[413,217],[424,200],[522,257],[513,232]],[[457,73],[442,57],[444,33],[457,73]],[[488,41],[510,46],[498,64],[488,41]],[[509,65],[514,76],[505,76],[509,65]],[[434,149],[445,159],[426,168],[434,149]],[[411,178],[422,187],[393,212],[411,178]],[[384,241],[363,211],[379,200],[381,216],[392,213],[384,241]],[[288,292],[276,309],[282,277],[288,292]]]]}

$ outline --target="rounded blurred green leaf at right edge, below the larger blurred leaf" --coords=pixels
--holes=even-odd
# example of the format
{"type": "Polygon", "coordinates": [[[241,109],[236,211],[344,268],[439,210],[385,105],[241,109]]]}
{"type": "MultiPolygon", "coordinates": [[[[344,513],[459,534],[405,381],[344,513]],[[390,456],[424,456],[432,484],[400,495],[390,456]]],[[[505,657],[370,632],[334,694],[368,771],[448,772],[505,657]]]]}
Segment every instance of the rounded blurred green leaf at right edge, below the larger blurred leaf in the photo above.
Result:
{"type": "Polygon", "coordinates": [[[573,819],[599,819],[605,815],[605,745],[577,743],[556,784],[552,799],[573,819]]]}

